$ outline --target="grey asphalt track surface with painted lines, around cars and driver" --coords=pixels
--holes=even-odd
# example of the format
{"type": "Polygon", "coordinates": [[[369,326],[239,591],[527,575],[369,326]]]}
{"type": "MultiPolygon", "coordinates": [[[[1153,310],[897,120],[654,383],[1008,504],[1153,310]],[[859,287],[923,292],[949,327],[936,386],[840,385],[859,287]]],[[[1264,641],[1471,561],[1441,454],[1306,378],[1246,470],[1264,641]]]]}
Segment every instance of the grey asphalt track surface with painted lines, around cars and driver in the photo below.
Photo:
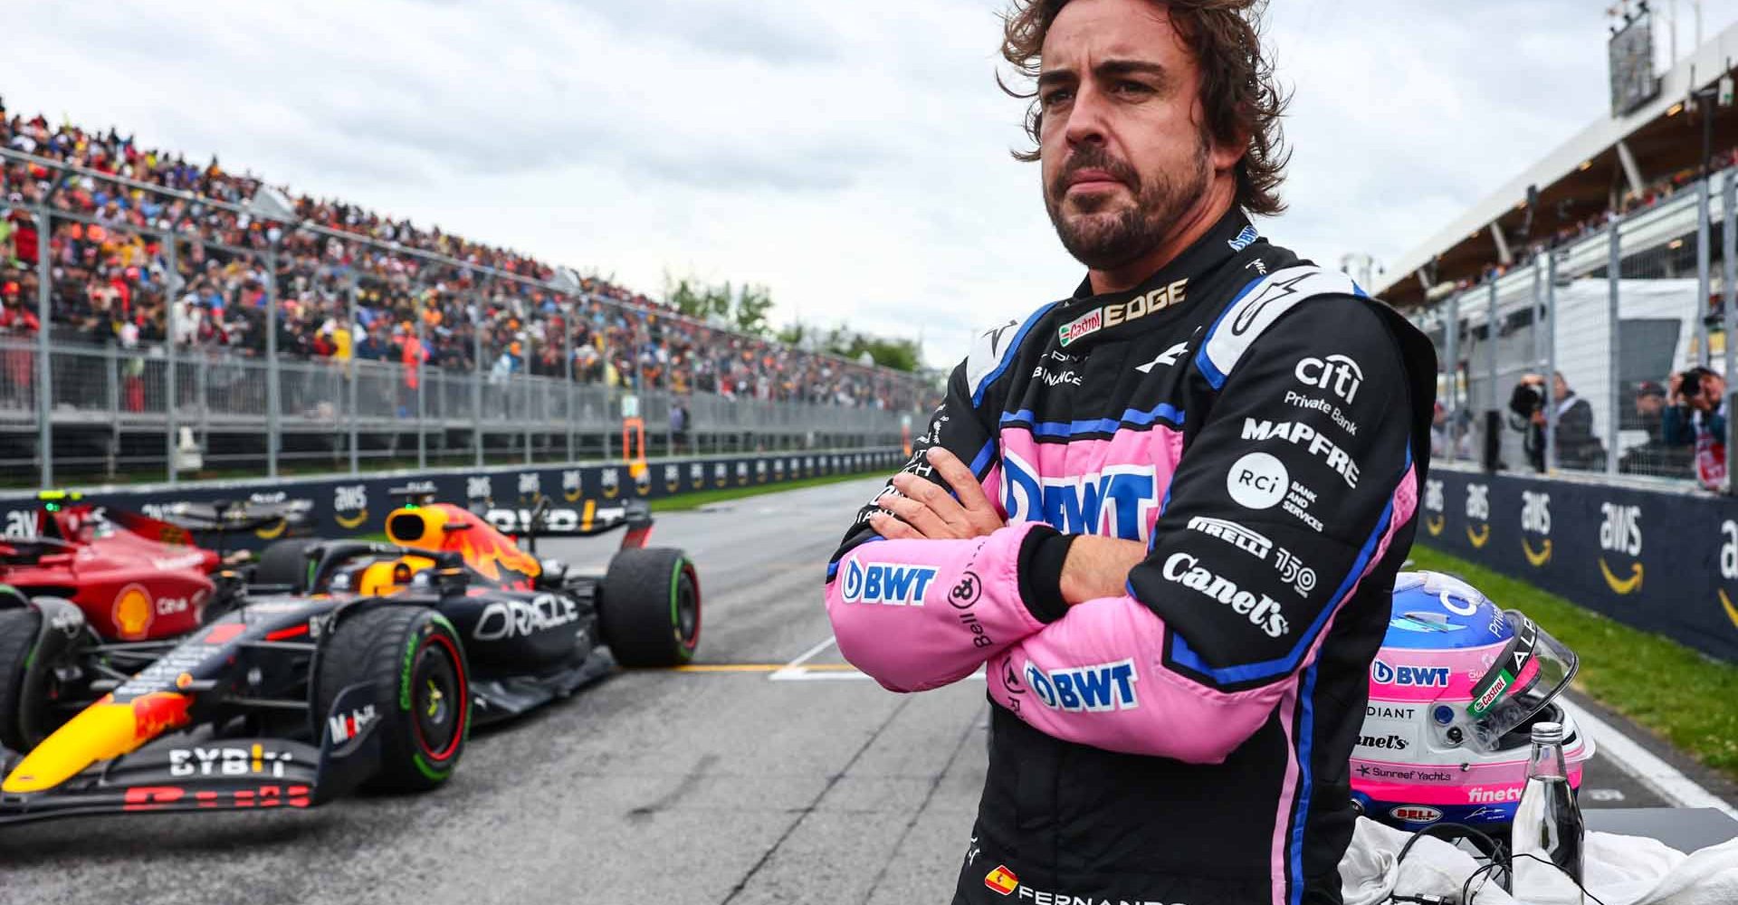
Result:
{"type": "MultiPolygon", "coordinates": [[[[652,542],[699,566],[699,662],[474,733],[438,792],[0,829],[0,903],[947,902],[984,783],[984,686],[881,690],[839,658],[820,603],[879,483],[659,516],[652,542]]],[[[542,552],[601,565],[614,542],[542,552]]],[[[1583,808],[1738,803],[1582,709],[1601,747],[1583,808]]]]}

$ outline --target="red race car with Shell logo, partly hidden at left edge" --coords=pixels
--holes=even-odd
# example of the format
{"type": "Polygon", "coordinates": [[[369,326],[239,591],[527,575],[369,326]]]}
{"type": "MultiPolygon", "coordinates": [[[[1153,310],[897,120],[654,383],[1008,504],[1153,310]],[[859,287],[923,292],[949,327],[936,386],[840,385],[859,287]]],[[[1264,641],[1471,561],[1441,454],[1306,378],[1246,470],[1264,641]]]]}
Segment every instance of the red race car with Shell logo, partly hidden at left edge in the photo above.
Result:
{"type": "Polygon", "coordinates": [[[132,674],[235,604],[242,575],[229,566],[247,554],[226,558],[193,545],[195,537],[221,542],[302,521],[283,507],[182,509],[163,521],[54,490],[38,495],[33,523],[12,525],[24,537],[0,537],[0,660],[31,643],[45,644],[42,653],[80,648],[52,672],[0,674],[0,700],[19,702],[12,719],[3,719],[10,707],[0,709],[0,745],[40,742],[96,698],[94,677],[132,674]]]}

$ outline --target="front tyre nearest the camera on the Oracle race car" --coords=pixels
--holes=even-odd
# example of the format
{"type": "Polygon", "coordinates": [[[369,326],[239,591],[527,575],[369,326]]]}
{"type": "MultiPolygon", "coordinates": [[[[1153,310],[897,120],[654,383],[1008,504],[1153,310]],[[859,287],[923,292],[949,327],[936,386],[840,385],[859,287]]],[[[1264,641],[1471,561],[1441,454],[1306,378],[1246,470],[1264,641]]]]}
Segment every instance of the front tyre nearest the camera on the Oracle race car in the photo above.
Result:
{"type": "Polygon", "coordinates": [[[320,653],[315,738],[344,688],[374,688],[381,770],[370,789],[424,792],[452,776],[471,735],[464,643],[426,606],[381,606],[339,622],[320,653]]]}

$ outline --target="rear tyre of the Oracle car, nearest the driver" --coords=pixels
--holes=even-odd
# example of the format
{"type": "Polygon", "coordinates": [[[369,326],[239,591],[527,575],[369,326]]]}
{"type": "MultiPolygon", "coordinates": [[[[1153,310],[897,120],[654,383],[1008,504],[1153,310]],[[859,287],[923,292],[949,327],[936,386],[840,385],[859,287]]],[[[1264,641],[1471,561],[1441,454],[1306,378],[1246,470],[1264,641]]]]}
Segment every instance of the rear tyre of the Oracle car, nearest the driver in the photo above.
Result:
{"type": "Polygon", "coordinates": [[[603,641],[624,667],[673,667],[700,644],[700,578],[678,549],[626,549],[603,575],[603,641]]]}

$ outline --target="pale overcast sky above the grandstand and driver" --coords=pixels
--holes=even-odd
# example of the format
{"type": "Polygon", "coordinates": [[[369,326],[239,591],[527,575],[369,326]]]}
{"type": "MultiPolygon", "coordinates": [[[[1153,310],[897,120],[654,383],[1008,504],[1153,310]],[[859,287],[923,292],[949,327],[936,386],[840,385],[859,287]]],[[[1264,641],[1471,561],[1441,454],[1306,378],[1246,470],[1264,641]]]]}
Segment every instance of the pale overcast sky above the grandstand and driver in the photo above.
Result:
{"type": "MultiPolygon", "coordinates": [[[[1264,231],[1397,259],[1606,111],[1606,5],[1279,0],[1291,212],[1264,231]]],[[[28,2],[0,94],[653,295],[766,283],[780,323],[921,332],[945,365],[1083,273],[1008,156],[1001,7],[28,2]]],[[[1738,17],[1703,7],[1708,36],[1738,17]]]]}

